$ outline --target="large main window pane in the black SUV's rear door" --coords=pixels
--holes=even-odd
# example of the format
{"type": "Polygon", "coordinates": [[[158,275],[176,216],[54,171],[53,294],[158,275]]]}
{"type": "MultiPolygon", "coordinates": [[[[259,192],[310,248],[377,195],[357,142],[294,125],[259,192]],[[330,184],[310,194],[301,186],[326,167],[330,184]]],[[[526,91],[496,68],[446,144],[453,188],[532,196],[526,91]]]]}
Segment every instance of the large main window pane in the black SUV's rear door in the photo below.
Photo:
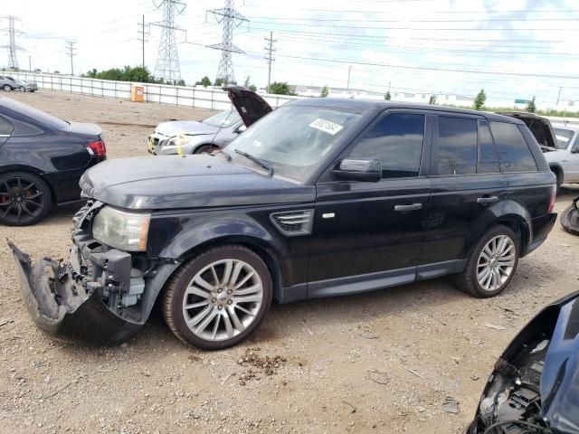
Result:
{"type": "Polygon", "coordinates": [[[436,141],[438,175],[477,173],[477,119],[440,116],[436,141]]]}

